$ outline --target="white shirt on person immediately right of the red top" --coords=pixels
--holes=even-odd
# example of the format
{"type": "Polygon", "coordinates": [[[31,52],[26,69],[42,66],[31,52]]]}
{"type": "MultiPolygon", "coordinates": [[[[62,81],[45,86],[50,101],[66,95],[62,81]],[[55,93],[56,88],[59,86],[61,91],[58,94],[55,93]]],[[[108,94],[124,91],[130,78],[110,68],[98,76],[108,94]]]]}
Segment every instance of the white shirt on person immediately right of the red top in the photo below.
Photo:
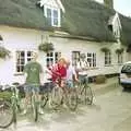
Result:
{"type": "Polygon", "coordinates": [[[73,80],[73,75],[76,75],[76,72],[74,68],[70,64],[69,68],[67,69],[67,80],[73,80]]]}

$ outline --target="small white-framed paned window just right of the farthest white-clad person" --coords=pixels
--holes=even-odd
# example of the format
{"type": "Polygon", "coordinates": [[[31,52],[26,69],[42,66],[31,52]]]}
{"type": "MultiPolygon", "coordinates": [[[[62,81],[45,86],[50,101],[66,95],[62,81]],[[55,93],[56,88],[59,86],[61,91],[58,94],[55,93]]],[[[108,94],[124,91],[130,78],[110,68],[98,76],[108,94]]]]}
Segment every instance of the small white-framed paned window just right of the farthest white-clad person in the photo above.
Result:
{"type": "Polygon", "coordinates": [[[90,63],[90,67],[96,67],[96,53],[87,52],[87,62],[90,63]]]}

